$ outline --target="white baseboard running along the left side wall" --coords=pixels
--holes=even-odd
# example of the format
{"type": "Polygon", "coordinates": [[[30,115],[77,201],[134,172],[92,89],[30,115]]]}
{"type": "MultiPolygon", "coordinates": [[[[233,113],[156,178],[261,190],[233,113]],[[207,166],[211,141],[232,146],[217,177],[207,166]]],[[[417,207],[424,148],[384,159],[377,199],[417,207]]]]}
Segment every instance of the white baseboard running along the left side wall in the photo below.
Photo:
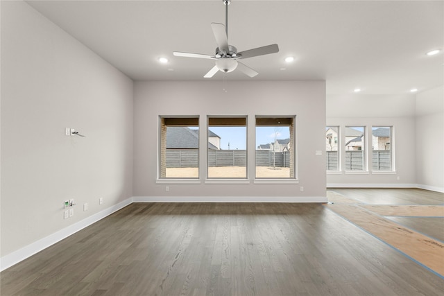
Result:
{"type": "Polygon", "coordinates": [[[77,223],[74,223],[73,225],[69,225],[64,229],[60,229],[58,232],[55,232],[53,234],[50,234],[49,236],[46,236],[45,238],[40,239],[39,241],[35,241],[30,245],[26,245],[26,247],[22,247],[22,249],[19,249],[15,252],[12,252],[6,256],[1,257],[0,271],[6,270],[6,268],[10,268],[12,265],[15,265],[20,261],[23,261],[24,259],[33,256],[33,254],[36,254],[46,249],[46,247],[49,247],[55,243],[58,243],[59,241],[62,241],[62,239],[67,238],[72,234],[75,234],[79,230],[89,225],[92,225],[93,223],[96,223],[97,221],[114,213],[114,211],[119,211],[119,209],[126,207],[128,204],[131,204],[132,202],[133,202],[132,198],[123,200],[123,202],[114,204],[114,206],[109,207],[108,209],[99,211],[99,213],[96,213],[92,216],[89,216],[88,218],[80,220],[77,223]]]}

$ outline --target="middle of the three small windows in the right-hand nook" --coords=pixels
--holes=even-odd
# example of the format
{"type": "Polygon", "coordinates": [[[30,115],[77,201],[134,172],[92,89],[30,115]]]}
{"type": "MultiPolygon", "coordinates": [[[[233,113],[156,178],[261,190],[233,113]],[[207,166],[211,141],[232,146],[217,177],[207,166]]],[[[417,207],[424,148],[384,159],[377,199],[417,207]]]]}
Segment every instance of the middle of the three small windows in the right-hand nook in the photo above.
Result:
{"type": "Polygon", "coordinates": [[[366,171],[366,127],[345,127],[345,171],[366,171]]]}

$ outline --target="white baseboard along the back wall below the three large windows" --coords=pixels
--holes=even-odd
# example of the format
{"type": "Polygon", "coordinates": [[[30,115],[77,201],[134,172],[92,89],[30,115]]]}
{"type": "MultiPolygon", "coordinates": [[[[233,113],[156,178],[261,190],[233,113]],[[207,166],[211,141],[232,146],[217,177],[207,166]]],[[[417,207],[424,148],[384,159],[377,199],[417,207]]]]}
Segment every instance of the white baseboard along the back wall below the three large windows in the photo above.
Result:
{"type": "Polygon", "coordinates": [[[326,196],[135,196],[133,202],[327,202],[326,196]]]}

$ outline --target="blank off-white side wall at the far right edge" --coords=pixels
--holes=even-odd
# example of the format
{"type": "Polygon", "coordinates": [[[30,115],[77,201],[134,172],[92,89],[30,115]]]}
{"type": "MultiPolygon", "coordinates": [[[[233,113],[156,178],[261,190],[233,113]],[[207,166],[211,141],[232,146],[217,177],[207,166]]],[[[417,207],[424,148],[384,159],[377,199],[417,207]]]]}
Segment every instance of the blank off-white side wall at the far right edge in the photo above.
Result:
{"type": "Polygon", "coordinates": [[[420,188],[444,192],[443,151],[444,87],[436,87],[416,96],[416,179],[420,188]]]}

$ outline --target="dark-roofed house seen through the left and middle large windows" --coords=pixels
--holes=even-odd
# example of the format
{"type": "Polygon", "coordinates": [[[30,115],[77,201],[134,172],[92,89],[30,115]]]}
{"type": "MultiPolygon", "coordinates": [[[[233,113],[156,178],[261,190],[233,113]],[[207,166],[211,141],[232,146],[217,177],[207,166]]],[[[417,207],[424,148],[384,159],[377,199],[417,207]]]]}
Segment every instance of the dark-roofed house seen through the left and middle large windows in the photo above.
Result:
{"type": "MultiPolygon", "coordinates": [[[[209,132],[208,149],[220,150],[221,138],[209,132]],[[219,146],[216,146],[216,145],[219,146]]],[[[169,127],[167,128],[167,149],[198,149],[199,137],[198,130],[191,130],[187,127],[169,127]]]]}

